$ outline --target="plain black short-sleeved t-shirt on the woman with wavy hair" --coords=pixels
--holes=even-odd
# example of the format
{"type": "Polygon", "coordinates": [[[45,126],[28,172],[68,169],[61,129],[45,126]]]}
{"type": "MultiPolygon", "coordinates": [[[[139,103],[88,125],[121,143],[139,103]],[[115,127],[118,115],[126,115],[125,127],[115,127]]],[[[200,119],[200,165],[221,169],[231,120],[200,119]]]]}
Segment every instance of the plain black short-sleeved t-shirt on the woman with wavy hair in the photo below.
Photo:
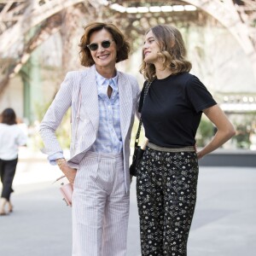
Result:
{"type": "Polygon", "coordinates": [[[155,79],[142,108],[145,136],[161,147],[193,146],[202,110],[216,104],[194,75],[179,73],[155,79]]]}

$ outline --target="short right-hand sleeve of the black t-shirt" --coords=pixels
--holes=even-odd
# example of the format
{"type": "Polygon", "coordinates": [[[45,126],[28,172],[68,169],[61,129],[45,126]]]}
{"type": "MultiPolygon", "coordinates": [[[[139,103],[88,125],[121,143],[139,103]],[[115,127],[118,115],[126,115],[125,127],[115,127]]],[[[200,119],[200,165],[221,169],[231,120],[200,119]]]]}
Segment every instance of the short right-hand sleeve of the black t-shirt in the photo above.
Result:
{"type": "Polygon", "coordinates": [[[201,83],[200,79],[192,76],[186,84],[187,96],[190,104],[195,108],[197,113],[205,108],[210,108],[217,104],[212,98],[211,93],[207,87],[201,83]]]}

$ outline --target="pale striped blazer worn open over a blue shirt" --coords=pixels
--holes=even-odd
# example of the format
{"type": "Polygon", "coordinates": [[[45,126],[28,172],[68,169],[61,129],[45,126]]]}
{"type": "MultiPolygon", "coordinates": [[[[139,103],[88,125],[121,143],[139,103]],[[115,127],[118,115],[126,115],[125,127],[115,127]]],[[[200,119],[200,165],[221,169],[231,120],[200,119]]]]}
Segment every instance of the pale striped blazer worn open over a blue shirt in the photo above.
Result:
{"type": "MultiPolygon", "coordinates": [[[[131,128],[140,96],[137,79],[126,73],[118,73],[120,126],[123,141],[126,191],[130,187],[129,157],[131,128]]],[[[85,71],[73,71],[66,75],[61,88],[51,103],[40,124],[40,135],[44,142],[42,152],[55,154],[62,151],[55,136],[61,119],[72,109],[70,159],[68,165],[78,168],[80,160],[96,141],[99,126],[98,92],[96,67],[85,71]]]]}

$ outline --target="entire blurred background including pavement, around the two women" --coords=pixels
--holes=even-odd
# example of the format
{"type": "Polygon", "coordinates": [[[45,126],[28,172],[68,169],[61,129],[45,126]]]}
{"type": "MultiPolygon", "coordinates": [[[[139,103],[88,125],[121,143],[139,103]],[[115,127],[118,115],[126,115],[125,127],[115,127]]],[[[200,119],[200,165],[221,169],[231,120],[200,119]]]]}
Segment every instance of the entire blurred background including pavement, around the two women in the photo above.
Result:
{"type": "MultiPolygon", "coordinates": [[[[51,185],[61,172],[49,166],[39,151],[43,144],[38,125],[67,71],[84,69],[79,40],[84,26],[95,20],[112,22],[125,33],[131,56],[118,68],[137,77],[141,87],[138,70],[145,32],[156,24],[180,29],[191,73],[207,86],[236,127],[235,137],[200,161],[189,256],[255,255],[255,0],[0,0],[0,112],[14,108],[29,137],[27,147],[20,148],[15,211],[11,218],[0,218],[0,255],[70,255],[70,209],[63,208],[58,189],[51,185]]],[[[57,131],[66,149],[69,122],[70,112],[57,131]]],[[[214,132],[203,117],[196,135],[198,147],[214,132]]],[[[128,256],[137,256],[135,183],[131,186],[128,256]]]]}

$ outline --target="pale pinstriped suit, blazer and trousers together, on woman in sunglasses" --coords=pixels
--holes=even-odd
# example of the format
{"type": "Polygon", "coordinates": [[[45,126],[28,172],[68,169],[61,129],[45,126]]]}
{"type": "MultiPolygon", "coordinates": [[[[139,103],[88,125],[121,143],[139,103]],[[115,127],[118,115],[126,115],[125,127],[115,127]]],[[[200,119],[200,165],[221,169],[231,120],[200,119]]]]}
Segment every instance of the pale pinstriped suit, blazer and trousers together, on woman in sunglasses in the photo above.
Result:
{"type": "Polygon", "coordinates": [[[121,154],[89,151],[99,129],[94,66],[67,73],[40,125],[45,147],[42,152],[54,160],[56,154],[62,154],[55,130],[67,109],[72,108],[71,158],[67,163],[78,169],[72,208],[73,256],[125,256],[126,252],[130,139],[140,90],[137,80],[130,75],[117,72],[117,76],[121,154]]]}

